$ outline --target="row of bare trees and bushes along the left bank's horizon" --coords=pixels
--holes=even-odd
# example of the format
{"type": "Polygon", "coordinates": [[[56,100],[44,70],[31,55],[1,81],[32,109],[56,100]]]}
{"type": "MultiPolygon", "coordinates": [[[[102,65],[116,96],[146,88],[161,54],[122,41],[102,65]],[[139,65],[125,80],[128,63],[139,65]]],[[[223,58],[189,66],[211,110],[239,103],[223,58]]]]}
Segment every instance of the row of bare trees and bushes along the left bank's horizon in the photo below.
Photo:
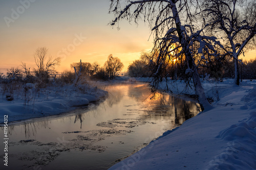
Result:
{"type": "Polygon", "coordinates": [[[0,79],[7,81],[23,81],[25,83],[36,83],[38,87],[46,87],[55,81],[72,84],[78,80],[85,82],[87,79],[109,80],[118,76],[123,69],[123,63],[118,57],[109,55],[103,66],[98,62],[74,62],[70,64],[71,69],[58,74],[56,66],[60,64],[60,58],[53,58],[48,54],[48,48],[39,47],[34,53],[35,67],[30,68],[25,62],[18,67],[7,69],[7,75],[0,73],[0,79]],[[56,79],[56,76],[58,79],[56,79]]]}

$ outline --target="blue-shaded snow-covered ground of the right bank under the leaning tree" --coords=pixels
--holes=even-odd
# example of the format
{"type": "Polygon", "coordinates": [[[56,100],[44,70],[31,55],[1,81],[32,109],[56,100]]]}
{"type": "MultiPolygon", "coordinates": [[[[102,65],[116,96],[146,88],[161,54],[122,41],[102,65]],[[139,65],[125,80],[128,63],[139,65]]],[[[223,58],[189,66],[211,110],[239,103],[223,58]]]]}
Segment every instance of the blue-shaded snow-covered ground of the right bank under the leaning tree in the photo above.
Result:
{"type": "MultiPolygon", "coordinates": [[[[213,109],[186,120],[110,169],[256,169],[256,87],[203,82],[213,109]]],[[[177,81],[173,92],[194,94],[177,81]],[[177,88],[178,87],[178,88],[177,88]]],[[[166,89],[165,83],[160,88],[166,89]]]]}

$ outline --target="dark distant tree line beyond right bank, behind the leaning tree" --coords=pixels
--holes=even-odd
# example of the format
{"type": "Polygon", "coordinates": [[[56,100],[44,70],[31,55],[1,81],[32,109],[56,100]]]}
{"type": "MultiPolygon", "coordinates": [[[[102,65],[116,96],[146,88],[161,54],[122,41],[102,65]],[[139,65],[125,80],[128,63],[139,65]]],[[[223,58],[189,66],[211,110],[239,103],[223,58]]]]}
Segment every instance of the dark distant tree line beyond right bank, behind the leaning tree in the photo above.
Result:
{"type": "MultiPolygon", "coordinates": [[[[133,63],[128,66],[127,74],[130,77],[151,77],[154,74],[152,70],[154,66],[156,66],[156,59],[157,53],[154,57],[152,52],[141,53],[140,58],[133,61],[133,63]]],[[[165,71],[161,75],[162,80],[165,77],[172,80],[188,79],[187,75],[185,74],[186,67],[183,64],[182,58],[168,61],[165,71]]],[[[250,59],[248,61],[241,60],[239,63],[239,68],[241,79],[256,79],[256,56],[255,59],[250,59]]],[[[217,81],[221,81],[224,78],[234,79],[234,71],[233,60],[230,59],[230,57],[225,57],[221,60],[212,59],[212,61],[198,66],[198,73],[201,79],[210,78],[217,81]]]]}

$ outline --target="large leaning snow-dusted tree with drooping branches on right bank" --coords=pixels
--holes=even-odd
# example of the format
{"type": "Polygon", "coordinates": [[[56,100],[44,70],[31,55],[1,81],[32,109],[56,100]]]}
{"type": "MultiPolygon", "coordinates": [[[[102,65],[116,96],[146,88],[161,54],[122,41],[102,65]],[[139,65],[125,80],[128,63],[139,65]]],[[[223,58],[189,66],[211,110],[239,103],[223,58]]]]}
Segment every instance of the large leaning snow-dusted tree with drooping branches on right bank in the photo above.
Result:
{"type": "Polygon", "coordinates": [[[208,56],[217,55],[215,45],[219,44],[215,37],[205,36],[204,29],[208,25],[197,23],[194,13],[197,13],[199,3],[187,0],[142,0],[122,1],[111,0],[110,13],[116,18],[111,22],[114,26],[118,21],[125,18],[129,21],[139,19],[148,22],[154,35],[154,50],[159,53],[155,63],[153,74],[153,85],[158,86],[162,80],[162,73],[167,62],[184,56],[186,63],[186,74],[192,79],[195,92],[202,110],[210,109],[198,74],[197,63],[194,60],[195,46],[197,54],[204,60],[204,54],[208,56]],[[198,45],[195,45],[198,44],[198,45]],[[174,54],[177,49],[178,53],[174,54]]]}

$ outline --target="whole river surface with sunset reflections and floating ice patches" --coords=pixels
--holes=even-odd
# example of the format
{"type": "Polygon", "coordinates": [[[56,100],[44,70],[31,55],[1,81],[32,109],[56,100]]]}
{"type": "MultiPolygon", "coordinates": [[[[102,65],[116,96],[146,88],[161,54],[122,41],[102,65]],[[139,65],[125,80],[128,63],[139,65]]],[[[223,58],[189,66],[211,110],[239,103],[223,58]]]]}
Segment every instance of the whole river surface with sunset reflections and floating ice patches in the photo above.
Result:
{"type": "Polygon", "coordinates": [[[142,83],[106,90],[102,103],[9,125],[8,167],[1,142],[1,169],[108,169],[200,111],[196,101],[167,93],[151,99],[142,83]]]}

